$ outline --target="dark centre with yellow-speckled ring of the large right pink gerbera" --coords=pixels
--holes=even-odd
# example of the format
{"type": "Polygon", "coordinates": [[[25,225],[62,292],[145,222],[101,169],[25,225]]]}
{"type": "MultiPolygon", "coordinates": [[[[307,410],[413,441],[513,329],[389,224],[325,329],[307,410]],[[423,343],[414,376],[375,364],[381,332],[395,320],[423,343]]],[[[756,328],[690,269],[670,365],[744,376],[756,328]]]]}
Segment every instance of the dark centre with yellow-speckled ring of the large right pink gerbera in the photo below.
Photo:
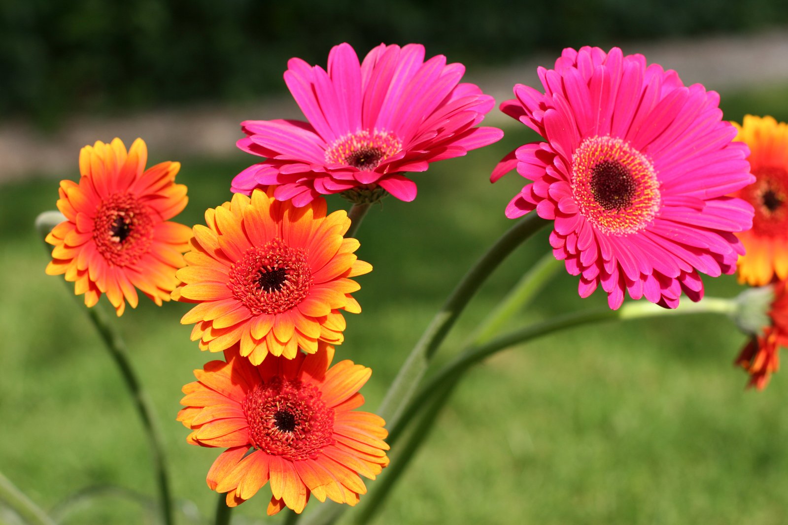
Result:
{"type": "Polygon", "coordinates": [[[660,211],[660,181],[649,158],[617,137],[585,139],[572,156],[580,212],[605,235],[642,230],[660,211]]]}

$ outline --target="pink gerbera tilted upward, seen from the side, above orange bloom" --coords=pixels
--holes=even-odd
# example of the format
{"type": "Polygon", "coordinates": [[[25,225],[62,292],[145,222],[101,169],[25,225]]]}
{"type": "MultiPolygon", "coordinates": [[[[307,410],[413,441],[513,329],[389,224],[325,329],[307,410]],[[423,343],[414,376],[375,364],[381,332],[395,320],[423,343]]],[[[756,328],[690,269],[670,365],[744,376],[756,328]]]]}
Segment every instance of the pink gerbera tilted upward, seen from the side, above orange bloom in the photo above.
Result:
{"type": "Polygon", "coordinates": [[[430,162],[465,155],[503,135],[475,128],[494,101],[471,83],[459,83],[461,64],[438,55],[424,61],[424,46],[381,44],[359,57],[334,46],[328,72],[292,58],[284,73],[309,122],[247,120],[240,149],[267,157],[240,172],[232,191],[276,187],[280,201],[306,205],[318,195],[343,193],[370,202],[386,192],[403,201],[416,184],[403,172],[423,172],[430,162]]]}

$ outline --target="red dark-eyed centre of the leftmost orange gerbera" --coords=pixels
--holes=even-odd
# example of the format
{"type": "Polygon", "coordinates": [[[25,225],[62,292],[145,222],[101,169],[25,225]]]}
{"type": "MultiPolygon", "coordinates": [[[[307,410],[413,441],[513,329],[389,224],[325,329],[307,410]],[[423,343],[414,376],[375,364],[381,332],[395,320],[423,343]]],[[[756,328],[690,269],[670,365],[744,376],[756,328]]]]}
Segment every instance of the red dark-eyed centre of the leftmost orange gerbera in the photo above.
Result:
{"type": "Polygon", "coordinates": [[[96,249],[109,264],[127,266],[147,253],[154,234],[151,209],[130,194],[102,200],[93,221],[96,249]]]}

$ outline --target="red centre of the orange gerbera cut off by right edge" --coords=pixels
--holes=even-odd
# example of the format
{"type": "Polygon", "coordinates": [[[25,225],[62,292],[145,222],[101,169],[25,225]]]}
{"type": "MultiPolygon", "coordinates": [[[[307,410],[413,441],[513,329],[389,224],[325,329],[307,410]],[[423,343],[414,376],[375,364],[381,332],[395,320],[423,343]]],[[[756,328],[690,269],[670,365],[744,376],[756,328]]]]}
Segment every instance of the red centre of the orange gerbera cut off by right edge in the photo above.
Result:
{"type": "Polygon", "coordinates": [[[755,182],[742,190],[742,198],[755,208],[753,233],[768,237],[788,235],[788,172],[766,167],[753,170],[755,182]]]}

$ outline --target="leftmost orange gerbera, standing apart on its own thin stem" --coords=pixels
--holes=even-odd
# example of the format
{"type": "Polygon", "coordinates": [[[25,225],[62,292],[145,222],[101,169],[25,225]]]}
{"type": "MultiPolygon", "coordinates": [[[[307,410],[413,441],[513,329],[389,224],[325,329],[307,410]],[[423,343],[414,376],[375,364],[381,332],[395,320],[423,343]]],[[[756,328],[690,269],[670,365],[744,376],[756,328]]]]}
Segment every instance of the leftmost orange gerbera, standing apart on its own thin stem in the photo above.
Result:
{"type": "Polygon", "coordinates": [[[175,183],[179,162],[145,169],[147,146],[136,139],[128,153],[121,139],[80,150],[80,182],[62,180],[58,209],[66,220],[46,242],[54,245],[49,275],[65,274],[93,306],[101,294],[123,314],[137,305],[138,288],[157,305],[178,285],[191,230],[168,222],[186,206],[186,187],[175,183]]]}

